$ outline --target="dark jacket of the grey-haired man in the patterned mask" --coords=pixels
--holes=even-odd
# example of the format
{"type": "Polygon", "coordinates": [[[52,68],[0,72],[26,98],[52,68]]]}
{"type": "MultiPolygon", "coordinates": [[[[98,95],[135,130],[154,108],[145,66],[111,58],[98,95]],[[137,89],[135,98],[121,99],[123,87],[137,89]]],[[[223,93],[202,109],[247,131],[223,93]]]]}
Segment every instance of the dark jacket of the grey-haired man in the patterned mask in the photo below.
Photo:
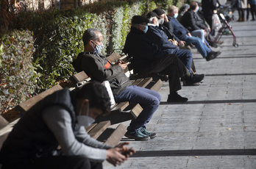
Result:
{"type": "Polygon", "coordinates": [[[91,79],[103,82],[110,82],[113,95],[117,96],[127,87],[132,85],[123,69],[119,65],[112,65],[107,61],[107,57],[90,52],[82,52],[72,63],[77,72],[85,71],[91,79]],[[105,68],[109,65],[109,68],[105,68]]]}

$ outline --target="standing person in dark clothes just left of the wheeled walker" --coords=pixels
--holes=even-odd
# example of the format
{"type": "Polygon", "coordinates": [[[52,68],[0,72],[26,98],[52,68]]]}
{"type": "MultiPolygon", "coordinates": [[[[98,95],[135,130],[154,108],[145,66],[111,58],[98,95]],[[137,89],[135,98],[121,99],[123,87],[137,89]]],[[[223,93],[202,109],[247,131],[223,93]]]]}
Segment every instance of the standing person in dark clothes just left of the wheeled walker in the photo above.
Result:
{"type": "Polygon", "coordinates": [[[202,0],[202,12],[205,21],[210,26],[210,35],[215,35],[215,29],[213,29],[213,13],[217,12],[217,0],[202,0]]]}

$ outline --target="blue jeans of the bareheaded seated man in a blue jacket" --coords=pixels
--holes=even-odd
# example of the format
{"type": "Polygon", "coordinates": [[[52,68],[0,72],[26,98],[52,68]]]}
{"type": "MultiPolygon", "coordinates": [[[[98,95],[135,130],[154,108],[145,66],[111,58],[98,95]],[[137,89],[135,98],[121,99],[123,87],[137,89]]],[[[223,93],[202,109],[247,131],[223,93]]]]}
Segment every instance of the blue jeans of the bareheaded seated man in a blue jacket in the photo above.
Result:
{"type": "Polygon", "coordinates": [[[211,51],[210,48],[208,48],[199,37],[190,37],[185,35],[181,40],[184,40],[186,43],[192,43],[194,46],[196,46],[199,53],[202,54],[202,57],[207,57],[207,54],[209,54],[211,51]]]}

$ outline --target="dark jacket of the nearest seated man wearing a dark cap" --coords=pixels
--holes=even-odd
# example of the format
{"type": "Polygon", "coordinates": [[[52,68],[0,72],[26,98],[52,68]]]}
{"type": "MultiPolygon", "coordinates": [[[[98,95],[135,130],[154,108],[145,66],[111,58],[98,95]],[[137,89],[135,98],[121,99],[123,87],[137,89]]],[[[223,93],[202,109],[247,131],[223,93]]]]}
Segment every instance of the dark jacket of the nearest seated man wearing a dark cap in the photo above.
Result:
{"type": "Polygon", "coordinates": [[[124,51],[129,54],[129,57],[133,57],[132,67],[135,73],[146,68],[154,60],[163,58],[168,54],[168,52],[161,50],[159,46],[146,38],[144,32],[134,27],[131,28],[127,35],[124,51]]]}

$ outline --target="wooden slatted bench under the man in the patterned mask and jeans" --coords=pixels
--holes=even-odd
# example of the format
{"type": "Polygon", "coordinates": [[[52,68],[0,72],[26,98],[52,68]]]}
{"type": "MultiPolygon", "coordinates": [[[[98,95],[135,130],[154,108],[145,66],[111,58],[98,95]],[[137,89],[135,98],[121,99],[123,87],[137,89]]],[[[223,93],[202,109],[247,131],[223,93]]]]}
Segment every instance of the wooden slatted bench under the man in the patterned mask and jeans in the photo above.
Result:
{"type": "MultiPolygon", "coordinates": [[[[120,54],[111,54],[109,57],[107,57],[110,62],[116,62],[116,60],[124,60],[125,62],[128,60],[127,55],[120,55],[120,54]]],[[[126,70],[124,70],[125,74],[130,77],[132,75],[132,68],[127,67],[126,70]]],[[[134,76],[133,76],[134,77],[134,76]]],[[[81,71],[79,73],[74,74],[71,77],[71,82],[77,85],[77,87],[82,86],[86,82],[90,81],[90,77],[84,72],[81,71]]],[[[148,77],[140,77],[139,79],[133,78],[131,80],[133,85],[137,85],[139,87],[146,87],[151,90],[158,91],[160,87],[162,87],[163,82],[160,78],[153,81],[153,78],[148,77]]],[[[112,108],[110,115],[102,116],[96,118],[96,122],[100,121],[110,121],[111,124],[115,123],[121,123],[124,121],[129,121],[132,119],[135,119],[140,115],[143,108],[140,104],[129,104],[129,101],[124,101],[119,104],[115,104],[115,106],[112,108]]]]}

